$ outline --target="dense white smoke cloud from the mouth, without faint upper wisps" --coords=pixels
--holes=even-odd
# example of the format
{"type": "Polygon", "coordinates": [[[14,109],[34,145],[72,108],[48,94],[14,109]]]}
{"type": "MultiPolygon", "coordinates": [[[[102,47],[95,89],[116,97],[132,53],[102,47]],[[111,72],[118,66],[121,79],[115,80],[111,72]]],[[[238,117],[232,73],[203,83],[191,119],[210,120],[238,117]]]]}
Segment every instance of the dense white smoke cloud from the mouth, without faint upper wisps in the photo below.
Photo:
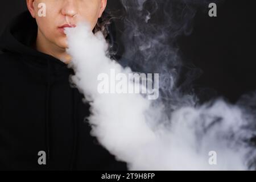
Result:
{"type": "Polygon", "coordinates": [[[100,94],[100,73],[115,69],[128,74],[131,69],[107,56],[104,36],[94,35],[86,23],[65,32],[72,56],[69,66],[75,70],[72,81],[91,105],[91,134],[129,169],[250,169],[256,154],[249,140],[255,129],[242,107],[218,100],[202,106],[184,104],[167,113],[164,103],[140,94],[100,94]],[[217,165],[208,163],[210,151],[216,151],[217,165]]]}

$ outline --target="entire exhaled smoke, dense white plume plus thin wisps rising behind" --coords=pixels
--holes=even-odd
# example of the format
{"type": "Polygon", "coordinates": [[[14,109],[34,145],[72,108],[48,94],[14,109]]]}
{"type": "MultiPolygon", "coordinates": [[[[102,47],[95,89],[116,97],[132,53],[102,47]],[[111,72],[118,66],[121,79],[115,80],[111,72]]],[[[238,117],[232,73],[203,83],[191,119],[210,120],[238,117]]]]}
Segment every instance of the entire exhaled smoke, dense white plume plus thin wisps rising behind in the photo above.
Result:
{"type": "MultiPolygon", "coordinates": [[[[180,92],[182,61],[175,40],[192,31],[196,9],[189,1],[168,2],[122,1],[127,13],[123,32],[127,66],[110,59],[101,32],[93,34],[86,23],[66,28],[69,67],[75,70],[72,82],[90,103],[91,134],[132,170],[255,169],[251,142],[256,135],[255,111],[245,102],[248,98],[237,105],[221,99],[199,105],[196,96],[180,92]],[[155,26],[154,13],[159,10],[164,18],[155,26]],[[178,10],[183,14],[176,17],[178,10]],[[159,73],[160,98],[99,93],[98,76],[110,75],[111,70],[123,75],[133,70],[159,73]],[[212,154],[217,154],[216,165],[210,165],[212,154]]],[[[135,83],[135,88],[140,86],[135,83]]]]}

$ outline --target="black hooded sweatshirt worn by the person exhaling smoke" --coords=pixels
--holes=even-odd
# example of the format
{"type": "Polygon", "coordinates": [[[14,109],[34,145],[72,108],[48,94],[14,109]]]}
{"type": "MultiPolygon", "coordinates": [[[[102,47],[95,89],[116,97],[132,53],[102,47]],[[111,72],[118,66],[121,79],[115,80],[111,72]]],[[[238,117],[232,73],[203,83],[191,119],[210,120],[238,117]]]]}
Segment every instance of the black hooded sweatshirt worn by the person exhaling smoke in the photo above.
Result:
{"type": "Polygon", "coordinates": [[[0,39],[0,169],[126,170],[91,137],[89,104],[69,82],[73,70],[32,48],[37,28],[26,11],[0,39]]]}

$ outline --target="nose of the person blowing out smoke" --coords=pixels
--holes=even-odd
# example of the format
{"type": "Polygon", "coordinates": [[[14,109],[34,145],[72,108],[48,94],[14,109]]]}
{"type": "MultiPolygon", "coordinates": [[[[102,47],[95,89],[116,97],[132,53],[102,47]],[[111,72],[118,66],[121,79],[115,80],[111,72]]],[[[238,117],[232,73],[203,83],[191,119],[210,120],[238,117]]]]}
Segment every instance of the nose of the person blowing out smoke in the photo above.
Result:
{"type": "Polygon", "coordinates": [[[64,16],[75,16],[78,13],[78,6],[76,0],[62,0],[63,7],[61,9],[61,14],[64,16]]]}

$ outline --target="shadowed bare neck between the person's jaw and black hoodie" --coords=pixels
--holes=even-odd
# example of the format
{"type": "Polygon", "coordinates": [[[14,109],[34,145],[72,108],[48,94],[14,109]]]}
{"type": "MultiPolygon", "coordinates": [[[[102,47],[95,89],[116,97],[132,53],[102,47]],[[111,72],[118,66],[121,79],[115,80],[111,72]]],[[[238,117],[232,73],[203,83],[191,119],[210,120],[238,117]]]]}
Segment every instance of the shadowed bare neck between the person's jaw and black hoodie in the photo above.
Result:
{"type": "Polygon", "coordinates": [[[38,36],[36,38],[36,49],[39,52],[56,57],[65,64],[68,64],[71,61],[71,56],[68,55],[65,48],[58,47],[52,42],[49,42],[40,30],[38,30],[38,36]]]}

